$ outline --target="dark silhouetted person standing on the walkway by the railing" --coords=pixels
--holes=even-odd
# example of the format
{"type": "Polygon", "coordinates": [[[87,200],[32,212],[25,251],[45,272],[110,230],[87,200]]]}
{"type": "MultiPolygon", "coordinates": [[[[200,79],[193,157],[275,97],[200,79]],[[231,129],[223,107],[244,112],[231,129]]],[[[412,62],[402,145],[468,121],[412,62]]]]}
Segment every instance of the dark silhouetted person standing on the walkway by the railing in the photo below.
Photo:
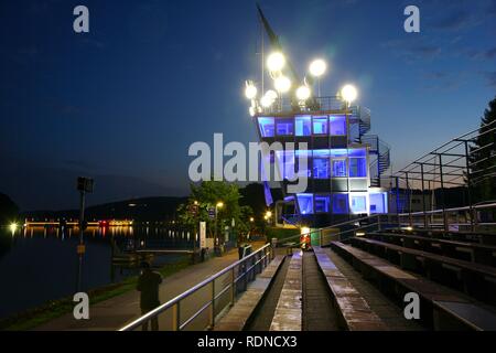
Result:
{"type": "MultiPolygon", "coordinates": [[[[152,271],[149,263],[142,263],[141,268],[143,271],[138,278],[136,289],[141,292],[141,313],[145,314],[160,306],[159,286],[162,282],[162,276],[159,272],[152,271]]],[[[159,319],[157,317],[151,319],[151,329],[152,331],[159,330],[159,319]]],[[[148,321],[143,323],[143,331],[148,331],[148,321]]]]}

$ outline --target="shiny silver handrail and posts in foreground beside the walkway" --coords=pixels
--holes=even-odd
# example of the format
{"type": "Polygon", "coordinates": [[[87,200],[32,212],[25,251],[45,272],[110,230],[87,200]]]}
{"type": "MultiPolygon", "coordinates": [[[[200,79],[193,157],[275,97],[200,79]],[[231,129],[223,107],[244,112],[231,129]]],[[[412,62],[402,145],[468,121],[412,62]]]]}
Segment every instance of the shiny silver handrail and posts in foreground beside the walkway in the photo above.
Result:
{"type": "MultiPolygon", "coordinates": [[[[168,302],[157,307],[155,309],[151,310],[150,312],[145,313],[144,315],[136,319],[134,321],[128,323],[127,325],[125,325],[123,328],[119,329],[119,331],[130,331],[130,330],[134,330],[139,327],[141,327],[142,324],[149,322],[151,319],[157,318],[158,315],[160,315],[161,313],[165,312],[169,309],[174,309],[174,307],[179,307],[181,301],[186,299],[187,297],[192,296],[193,293],[195,293],[197,290],[206,287],[209,284],[214,284],[214,281],[222,277],[223,275],[226,275],[229,271],[233,271],[233,281],[229,282],[229,285],[226,286],[226,288],[224,288],[218,295],[215,295],[215,290],[213,291],[213,296],[212,298],[204,304],[202,306],[202,308],[200,310],[197,310],[196,312],[194,312],[188,319],[186,319],[182,324],[180,323],[180,308],[177,308],[177,312],[175,313],[176,315],[176,324],[175,324],[175,329],[176,330],[182,330],[184,329],[187,324],[190,324],[194,319],[196,319],[202,312],[204,312],[207,308],[213,308],[215,306],[215,300],[218,299],[222,295],[224,295],[229,288],[233,288],[233,290],[235,290],[234,286],[237,285],[238,280],[245,276],[248,275],[248,272],[250,270],[252,270],[258,264],[262,263],[262,260],[267,259],[267,257],[270,255],[271,259],[273,258],[273,249],[271,247],[270,244],[266,244],[265,246],[262,246],[261,248],[259,248],[257,252],[246,256],[245,258],[237,260],[236,263],[227,266],[226,268],[224,268],[223,270],[218,271],[217,274],[211,276],[209,278],[201,281],[200,284],[193,286],[192,288],[190,288],[188,290],[186,290],[185,292],[176,296],[175,298],[169,300],[168,302]],[[245,265],[247,261],[249,261],[250,259],[255,258],[256,256],[263,254],[263,256],[261,256],[259,258],[258,261],[256,261],[256,264],[254,264],[252,266],[250,266],[249,268],[245,268],[244,269],[244,274],[237,278],[234,277],[234,269],[238,266],[242,266],[245,265]]],[[[268,261],[266,261],[266,264],[268,264],[268,261]]],[[[233,302],[234,303],[234,302],[233,302]]],[[[215,312],[214,312],[214,318],[213,318],[213,323],[215,323],[215,312]]]]}

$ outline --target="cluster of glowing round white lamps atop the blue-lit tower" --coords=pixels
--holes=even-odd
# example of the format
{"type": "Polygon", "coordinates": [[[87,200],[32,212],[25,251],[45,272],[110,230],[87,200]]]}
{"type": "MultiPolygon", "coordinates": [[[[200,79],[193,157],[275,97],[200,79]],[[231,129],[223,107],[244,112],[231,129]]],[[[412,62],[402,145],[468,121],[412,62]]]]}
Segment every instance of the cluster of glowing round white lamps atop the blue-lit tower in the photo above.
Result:
{"type": "MultiPolygon", "coordinates": [[[[291,90],[293,83],[283,74],[285,66],[287,60],[281,52],[273,52],[268,56],[267,69],[269,76],[272,78],[273,89],[268,89],[267,92],[261,93],[261,95],[259,95],[254,81],[246,81],[245,96],[251,101],[249,108],[250,116],[262,113],[263,108],[270,108],[278,98],[282,98],[284,94],[291,90]]],[[[309,65],[309,74],[316,79],[320,79],[326,72],[327,63],[322,58],[316,58],[309,65]]],[[[312,88],[306,77],[303,79],[303,83],[294,89],[294,95],[301,107],[304,107],[306,101],[312,97],[312,88]]],[[[345,85],[338,95],[349,105],[356,99],[357,90],[352,85],[345,85]]]]}

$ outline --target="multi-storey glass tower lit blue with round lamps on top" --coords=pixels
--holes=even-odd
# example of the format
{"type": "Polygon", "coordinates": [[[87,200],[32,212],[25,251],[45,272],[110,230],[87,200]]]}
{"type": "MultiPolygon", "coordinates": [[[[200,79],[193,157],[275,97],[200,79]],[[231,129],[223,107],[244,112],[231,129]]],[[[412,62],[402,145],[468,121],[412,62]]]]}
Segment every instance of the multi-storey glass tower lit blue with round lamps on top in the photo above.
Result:
{"type": "MultiPolygon", "coordinates": [[[[271,53],[262,63],[271,87],[259,89],[247,81],[245,93],[260,141],[284,146],[269,157],[282,179],[280,218],[324,226],[353,215],[387,213],[388,196],[380,188],[380,176],[390,165],[389,147],[367,135],[370,111],[353,105],[356,88],[345,85],[335,96],[321,96],[325,61],[313,61],[309,75],[300,79],[260,9],[259,14],[271,43],[271,53]],[[288,142],[293,142],[294,149],[288,149],[288,142]],[[308,149],[301,149],[302,142],[308,149]],[[303,158],[306,168],[300,163],[303,158]],[[295,175],[308,178],[306,189],[288,192],[288,184],[296,183],[295,175]]],[[[263,79],[260,84],[263,86],[263,79]]]]}

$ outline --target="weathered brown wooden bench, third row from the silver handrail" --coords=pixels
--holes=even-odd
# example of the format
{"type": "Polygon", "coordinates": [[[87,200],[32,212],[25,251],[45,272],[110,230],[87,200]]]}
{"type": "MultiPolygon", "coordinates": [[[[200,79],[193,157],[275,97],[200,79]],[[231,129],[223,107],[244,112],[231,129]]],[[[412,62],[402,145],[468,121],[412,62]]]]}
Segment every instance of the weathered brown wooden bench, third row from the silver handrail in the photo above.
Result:
{"type": "Polygon", "coordinates": [[[339,325],[349,331],[384,331],[386,325],[370,309],[367,301],[336,268],[333,261],[320,247],[313,248],[315,257],[325,276],[333,303],[341,322],[339,325]]]}

